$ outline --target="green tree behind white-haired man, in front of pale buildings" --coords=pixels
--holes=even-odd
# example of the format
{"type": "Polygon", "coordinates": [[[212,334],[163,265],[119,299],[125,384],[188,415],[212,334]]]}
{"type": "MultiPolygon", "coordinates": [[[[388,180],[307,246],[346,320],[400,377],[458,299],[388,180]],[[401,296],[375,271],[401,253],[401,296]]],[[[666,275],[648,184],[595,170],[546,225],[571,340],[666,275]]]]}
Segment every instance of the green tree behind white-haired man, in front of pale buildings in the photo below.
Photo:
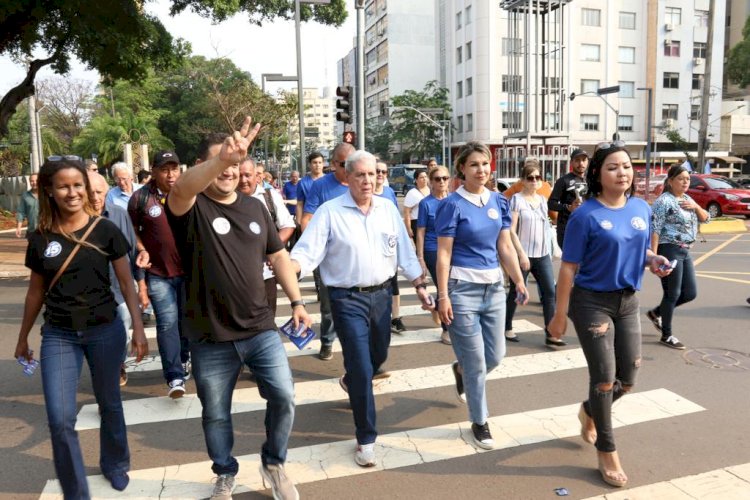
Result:
{"type": "Polygon", "coordinates": [[[448,89],[433,80],[427,82],[423,91],[407,90],[391,98],[391,103],[396,108],[391,113],[391,140],[401,145],[402,160],[409,161],[413,157],[421,160],[439,153],[442,147],[441,127],[425,119],[414,108],[420,111],[442,110],[440,113],[425,113],[438,123],[450,119],[448,89]]]}

